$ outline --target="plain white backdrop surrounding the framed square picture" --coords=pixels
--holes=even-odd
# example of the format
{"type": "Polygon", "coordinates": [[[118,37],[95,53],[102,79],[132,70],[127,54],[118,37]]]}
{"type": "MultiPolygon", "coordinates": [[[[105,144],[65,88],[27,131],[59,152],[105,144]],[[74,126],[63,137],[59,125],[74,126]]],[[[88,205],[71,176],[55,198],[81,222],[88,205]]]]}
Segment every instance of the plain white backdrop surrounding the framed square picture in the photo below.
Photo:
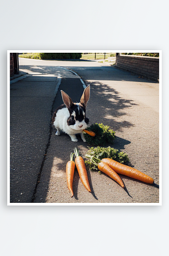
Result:
{"type": "Polygon", "coordinates": [[[168,230],[168,8],[165,1],[1,5],[3,256],[159,255],[168,230]],[[7,206],[7,50],[162,50],[162,206],[7,206]]]}

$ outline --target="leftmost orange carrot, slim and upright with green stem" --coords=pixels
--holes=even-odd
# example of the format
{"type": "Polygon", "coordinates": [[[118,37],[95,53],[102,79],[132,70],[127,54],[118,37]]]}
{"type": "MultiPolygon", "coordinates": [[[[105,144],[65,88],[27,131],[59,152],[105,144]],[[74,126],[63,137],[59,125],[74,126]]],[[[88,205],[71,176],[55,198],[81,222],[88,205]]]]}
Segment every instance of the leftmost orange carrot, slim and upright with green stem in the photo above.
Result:
{"type": "Polygon", "coordinates": [[[73,154],[70,154],[70,161],[66,164],[66,178],[67,178],[67,184],[68,188],[71,192],[71,197],[73,197],[73,175],[74,175],[74,167],[75,163],[73,161],[73,154]]]}

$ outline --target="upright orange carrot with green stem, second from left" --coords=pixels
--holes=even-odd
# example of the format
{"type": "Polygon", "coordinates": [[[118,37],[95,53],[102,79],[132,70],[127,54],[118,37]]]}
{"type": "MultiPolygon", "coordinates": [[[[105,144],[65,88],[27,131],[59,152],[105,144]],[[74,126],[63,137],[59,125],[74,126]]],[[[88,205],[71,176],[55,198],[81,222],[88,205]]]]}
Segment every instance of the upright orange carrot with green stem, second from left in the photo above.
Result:
{"type": "Polygon", "coordinates": [[[74,148],[74,154],[76,156],[75,164],[77,167],[78,174],[80,176],[80,180],[81,180],[82,184],[86,187],[86,189],[89,192],[91,192],[85,162],[84,162],[83,158],[79,156],[78,148],[74,148]]]}

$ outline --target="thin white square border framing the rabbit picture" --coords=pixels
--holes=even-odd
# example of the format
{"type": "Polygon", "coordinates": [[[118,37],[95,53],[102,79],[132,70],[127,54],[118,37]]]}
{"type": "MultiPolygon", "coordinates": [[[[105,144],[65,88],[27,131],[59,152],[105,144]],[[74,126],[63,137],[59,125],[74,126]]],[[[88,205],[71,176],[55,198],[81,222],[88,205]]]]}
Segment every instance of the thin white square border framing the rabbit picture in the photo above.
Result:
{"type": "Polygon", "coordinates": [[[7,51],[7,205],[8,206],[161,206],[162,205],[162,50],[8,50],[7,51]],[[159,53],[159,203],[10,203],[10,53],[155,52],[159,53]]]}

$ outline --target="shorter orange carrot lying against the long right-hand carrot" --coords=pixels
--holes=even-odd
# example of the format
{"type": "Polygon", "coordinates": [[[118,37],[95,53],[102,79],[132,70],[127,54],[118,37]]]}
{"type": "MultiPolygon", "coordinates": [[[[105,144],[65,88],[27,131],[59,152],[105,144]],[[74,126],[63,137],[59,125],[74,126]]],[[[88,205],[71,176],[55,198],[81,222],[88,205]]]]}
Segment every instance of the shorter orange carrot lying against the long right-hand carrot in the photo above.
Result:
{"type": "Polygon", "coordinates": [[[124,188],[123,181],[121,180],[119,175],[108,166],[108,164],[100,162],[98,163],[98,168],[99,170],[101,170],[101,172],[107,174],[110,178],[114,179],[117,183],[119,183],[119,185],[121,185],[121,187],[124,188]]]}

